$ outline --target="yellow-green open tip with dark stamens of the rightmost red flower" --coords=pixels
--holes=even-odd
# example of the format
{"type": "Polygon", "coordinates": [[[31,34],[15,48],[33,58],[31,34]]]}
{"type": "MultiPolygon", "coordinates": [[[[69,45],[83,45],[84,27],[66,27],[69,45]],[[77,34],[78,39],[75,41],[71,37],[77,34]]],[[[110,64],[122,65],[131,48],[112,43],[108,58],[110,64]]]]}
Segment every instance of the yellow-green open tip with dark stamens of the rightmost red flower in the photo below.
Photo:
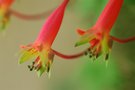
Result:
{"type": "Polygon", "coordinates": [[[93,30],[83,33],[84,31],[80,31],[81,39],[75,44],[75,47],[89,43],[90,48],[86,52],[90,58],[98,58],[101,55],[104,55],[104,59],[108,60],[109,52],[112,48],[112,40],[108,33],[103,32],[93,32],[93,30]]]}

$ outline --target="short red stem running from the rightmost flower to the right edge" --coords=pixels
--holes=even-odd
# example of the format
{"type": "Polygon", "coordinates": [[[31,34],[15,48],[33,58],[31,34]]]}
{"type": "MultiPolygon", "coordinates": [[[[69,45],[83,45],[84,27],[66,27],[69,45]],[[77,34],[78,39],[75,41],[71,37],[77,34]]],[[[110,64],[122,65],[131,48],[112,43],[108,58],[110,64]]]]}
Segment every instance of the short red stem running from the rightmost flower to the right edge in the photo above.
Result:
{"type": "Polygon", "coordinates": [[[114,36],[110,36],[112,40],[116,41],[116,42],[119,42],[119,43],[128,43],[128,42],[131,42],[131,41],[135,41],[135,36],[133,37],[129,37],[129,38],[126,38],[126,39],[119,39],[119,38],[116,38],[114,36]]]}

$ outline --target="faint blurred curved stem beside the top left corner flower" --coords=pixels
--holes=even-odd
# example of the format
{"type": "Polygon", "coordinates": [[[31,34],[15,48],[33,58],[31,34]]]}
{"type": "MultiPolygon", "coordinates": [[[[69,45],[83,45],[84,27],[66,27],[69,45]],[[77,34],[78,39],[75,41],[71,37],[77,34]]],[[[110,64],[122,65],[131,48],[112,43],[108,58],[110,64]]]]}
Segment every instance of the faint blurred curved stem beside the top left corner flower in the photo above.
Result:
{"type": "Polygon", "coordinates": [[[38,19],[43,19],[43,18],[47,17],[49,14],[51,14],[51,12],[53,10],[54,9],[51,9],[51,10],[45,11],[45,12],[40,13],[40,14],[35,14],[35,15],[23,14],[23,13],[20,13],[18,11],[15,11],[13,9],[10,9],[9,12],[10,12],[10,14],[12,14],[15,17],[20,18],[20,19],[24,19],[24,20],[38,20],[38,19]]]}

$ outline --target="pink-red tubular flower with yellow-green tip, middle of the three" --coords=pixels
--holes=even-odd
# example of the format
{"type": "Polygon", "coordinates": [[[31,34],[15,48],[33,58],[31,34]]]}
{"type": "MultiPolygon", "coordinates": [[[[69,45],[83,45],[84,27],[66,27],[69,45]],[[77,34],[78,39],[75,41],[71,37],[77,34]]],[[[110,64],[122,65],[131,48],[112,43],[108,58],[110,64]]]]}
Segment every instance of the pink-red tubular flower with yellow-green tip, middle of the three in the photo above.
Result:
{"type": "Polygon", "coordinates": [[[68,2],[69,0],[64,0],[50,17],[48,17],[34,43],[22,46],[23,51],[20,63],[24,63],[30,59],[35,59],[33,64],[28,67],[30,70],[35,69],[38,76],[41,76],[45,71],[47,73],[50,71],[50,66],[54,57],[51,45],[61,26],[64,11],[68,2]]]}

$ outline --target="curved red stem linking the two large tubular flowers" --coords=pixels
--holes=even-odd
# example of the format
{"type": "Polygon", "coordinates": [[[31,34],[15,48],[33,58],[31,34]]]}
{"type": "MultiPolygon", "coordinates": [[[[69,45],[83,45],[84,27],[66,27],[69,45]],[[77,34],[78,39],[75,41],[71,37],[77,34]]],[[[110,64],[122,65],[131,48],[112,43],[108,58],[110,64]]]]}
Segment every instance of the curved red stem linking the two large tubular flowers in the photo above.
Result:
{"type": "Polygon", "coordinates": [[[82,57],[83,55],[85,55],[86,50],[85,51],[82,51],[80,53],[77,53],[77,54],[73,54],[73,55],[65,55],[65,54],[60,53],[60,52],[55,51],[55,50],[52,50],[52,52],[55,55],[57,55],[57,56],[59,56],[61,58],[64,58],[64,59],[75,59],[75,58],[79,58],[79,57],[82,57]]]}

